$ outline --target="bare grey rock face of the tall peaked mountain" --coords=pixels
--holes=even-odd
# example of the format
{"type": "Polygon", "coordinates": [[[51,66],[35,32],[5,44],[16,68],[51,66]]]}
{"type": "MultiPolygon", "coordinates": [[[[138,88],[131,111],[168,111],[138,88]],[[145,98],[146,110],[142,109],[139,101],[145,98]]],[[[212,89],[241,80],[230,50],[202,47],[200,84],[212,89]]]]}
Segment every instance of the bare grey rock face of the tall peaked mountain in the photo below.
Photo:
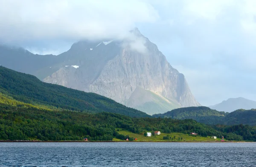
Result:
{"type": "Polygon", "coordinates": [[[172,68],[157,46],[138,30],[131,35],[131,38],[107,45],[106,42],[75,43],[69,51],[59,55],[70,60],[65,61],[66,64],[63,62],[62,67],[47,76],[44,82],[98,93],[150,114],[199,106],[183,74],[172,68]],[[67,65],[78,65],[79,68],[65,67],[67,65]],[[140,103],[143,100],[131,96],[138,87],[152,93],[148,100],[154,104],[159,104],[157,101],[161,99],[165,109],[143,110],[140,103]]]}

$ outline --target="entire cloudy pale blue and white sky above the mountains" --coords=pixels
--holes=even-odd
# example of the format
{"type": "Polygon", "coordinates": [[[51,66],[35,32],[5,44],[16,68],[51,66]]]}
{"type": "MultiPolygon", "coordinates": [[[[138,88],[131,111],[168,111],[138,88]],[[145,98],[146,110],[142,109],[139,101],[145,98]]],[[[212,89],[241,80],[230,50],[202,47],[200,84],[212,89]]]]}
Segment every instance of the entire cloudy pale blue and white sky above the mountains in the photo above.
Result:
{"type": "Polygon", "coordinates": [[[59,54],[135,26],[201,105],[256,100],[256,0],[1,0],[0,42],[59,54]]]}

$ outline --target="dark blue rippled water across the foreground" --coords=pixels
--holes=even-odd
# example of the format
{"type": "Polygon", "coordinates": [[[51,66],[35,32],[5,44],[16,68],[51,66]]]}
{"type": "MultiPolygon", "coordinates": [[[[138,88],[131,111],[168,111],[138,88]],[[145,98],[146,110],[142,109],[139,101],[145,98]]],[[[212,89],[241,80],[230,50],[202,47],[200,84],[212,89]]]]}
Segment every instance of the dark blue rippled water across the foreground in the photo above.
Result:
{"type": "Polygon", "coordinates": [[[0,143],[0,167],[256,167],[256,143],[0,143]]]}

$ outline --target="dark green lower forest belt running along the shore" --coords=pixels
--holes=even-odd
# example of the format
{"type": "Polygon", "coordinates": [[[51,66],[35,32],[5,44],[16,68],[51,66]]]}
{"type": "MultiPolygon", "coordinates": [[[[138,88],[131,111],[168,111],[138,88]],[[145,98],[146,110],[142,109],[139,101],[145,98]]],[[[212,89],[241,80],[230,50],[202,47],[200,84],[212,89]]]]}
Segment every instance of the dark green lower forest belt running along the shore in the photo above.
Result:
{"type": "Polygon", "coordinates": [[[256,140],[255,127],[244,125],[210,127],[192,119],[131,118],[106,112],[93,114],[0,104],[0,140],[133,139],[119,134],[117,129],[138,134],[155,130],[185,134],[195,131],[201,136],[221,135],[227,140],[256,140]]]}

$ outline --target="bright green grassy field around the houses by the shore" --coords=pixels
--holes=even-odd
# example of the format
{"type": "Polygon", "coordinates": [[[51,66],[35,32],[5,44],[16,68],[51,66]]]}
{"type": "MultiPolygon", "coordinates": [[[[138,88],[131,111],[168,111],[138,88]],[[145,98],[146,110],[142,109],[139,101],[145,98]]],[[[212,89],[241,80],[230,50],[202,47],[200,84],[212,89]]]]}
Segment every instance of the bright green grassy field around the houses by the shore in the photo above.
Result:
{"type": "MultiPolygon", "coordinates": [[[[129,135],[130,137],[137,138],[137,141],[135,142],[220,142],[220,139],[212,139],[210,136],[207,137],[201,137],[199,136],[190,136],[189,134],[184,133],[161,133],[160,135],[147,137],[144,136],[144,133],[137,134],[132,133],[127,130],[119,130],[119,134],[122,135],[129,135]],[[172,139],[169,140],[163,140],[163,136],[170,135],[172,139]]],[[[113,139],[113,141],[122,141],[120,139],[113,139]]]]}

